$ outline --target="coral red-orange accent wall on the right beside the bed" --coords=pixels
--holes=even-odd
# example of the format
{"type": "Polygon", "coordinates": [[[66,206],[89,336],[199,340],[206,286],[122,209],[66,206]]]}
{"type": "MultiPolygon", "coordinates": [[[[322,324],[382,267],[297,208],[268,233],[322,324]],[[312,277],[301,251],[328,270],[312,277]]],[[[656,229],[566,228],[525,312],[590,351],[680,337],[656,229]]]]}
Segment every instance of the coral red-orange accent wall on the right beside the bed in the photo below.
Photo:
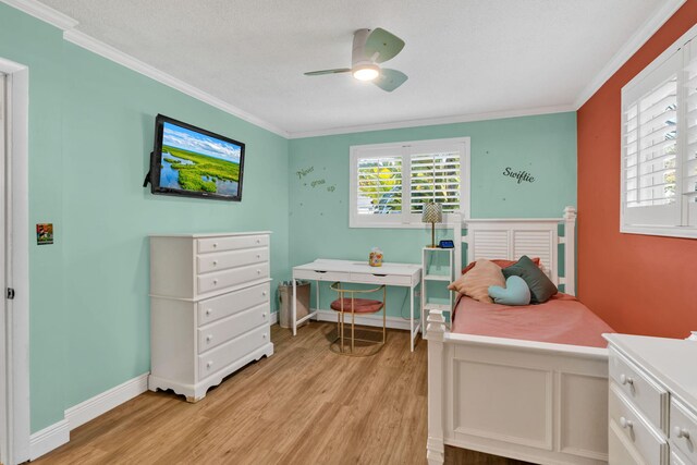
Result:
{"type": "Polygon", "coordinates": [[[616,331],[697,331],[697,240],[620,233],[621,89],[697,23],[687,2],[578,110],[578,296],[616,331]]]}

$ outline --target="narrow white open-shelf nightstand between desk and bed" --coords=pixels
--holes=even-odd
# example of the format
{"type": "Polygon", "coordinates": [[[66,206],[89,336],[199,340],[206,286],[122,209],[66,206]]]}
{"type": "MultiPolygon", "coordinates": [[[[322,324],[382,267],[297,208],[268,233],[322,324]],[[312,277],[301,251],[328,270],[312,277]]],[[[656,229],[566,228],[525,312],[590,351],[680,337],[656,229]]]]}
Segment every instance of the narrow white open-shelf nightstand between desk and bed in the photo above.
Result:
{"type": "Polygon", "coordinates": [[[426,334],[425,321],[430,310],[447,311],[452,315],[454,295],[448,284],[454,281],[453,248],[421,249],[421,333],[426,334]]]}

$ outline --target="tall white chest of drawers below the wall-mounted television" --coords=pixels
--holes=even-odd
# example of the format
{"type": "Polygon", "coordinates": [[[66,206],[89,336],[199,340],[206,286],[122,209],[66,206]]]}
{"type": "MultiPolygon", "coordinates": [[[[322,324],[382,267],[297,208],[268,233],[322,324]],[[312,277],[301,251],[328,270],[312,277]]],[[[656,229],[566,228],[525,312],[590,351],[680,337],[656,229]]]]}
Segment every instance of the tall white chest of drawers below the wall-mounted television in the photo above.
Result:
{"type": "Polygon", "coordinates": [[[196,402],[273,354],[269,232],[150,236],[148,388],[196,402]]]}

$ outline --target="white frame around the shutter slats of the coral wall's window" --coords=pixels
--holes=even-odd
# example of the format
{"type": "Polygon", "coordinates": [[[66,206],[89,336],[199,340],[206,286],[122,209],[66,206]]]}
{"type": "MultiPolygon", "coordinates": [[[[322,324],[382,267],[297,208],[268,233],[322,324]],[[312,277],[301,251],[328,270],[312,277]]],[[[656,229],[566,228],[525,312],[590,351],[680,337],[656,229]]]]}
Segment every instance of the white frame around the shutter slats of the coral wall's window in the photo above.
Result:
{"type": "MultiPolygon", "coordinates": [[[[685,193],[686,176],[683,167],[687,160],[687,90],[685,84],[685,69],[690,56],[697,54],[697,26],[693,26],[680,39],[668,47],[658,58],[639,72],[632,81],[622,87],[620,106],[620,232],[625,234],[659,235],[671,237],[697,238],[697,204],[690,203],[685,193]],[[676,157],[675,157],[675,183],[676,203],[680,210],[680,225],[667,224],[636,224],[628,221],[625,216],[627,188],[625,176],[625,159],[627,157],[626,147],[626,124],[625,109],[633,103],[629,97],[636,94],[636,88],[641,86],[645,79],[651,78],[667,62],[680,54],[680,65],[677,69],[677,113],[676,113],[676,157]],[[690,208],[692,207],[692,208],[690,208]],[[689,223],[693,223],[692,225],[689,223]]],[[[636,99],[634,102],[636,102],[636,99]]],[[[634,207],[637,208],[637,207],[634,207]]],[[[638,207],[647,208],[647,207],[638,207]]]]}

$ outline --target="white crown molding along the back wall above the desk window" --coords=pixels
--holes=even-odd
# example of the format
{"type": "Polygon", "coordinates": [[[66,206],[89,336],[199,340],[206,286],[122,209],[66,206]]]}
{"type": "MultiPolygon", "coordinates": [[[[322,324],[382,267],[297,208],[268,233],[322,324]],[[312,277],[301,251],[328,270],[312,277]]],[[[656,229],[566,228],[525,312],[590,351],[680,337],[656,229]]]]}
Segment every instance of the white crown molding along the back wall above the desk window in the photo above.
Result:
{"type": "Polygon", "coordinates": [[[394,121],[390,123],[365,124],[356,126],[331,127],[318,131],[299,131],[289,133],[289,138],[333,136],[338,134],[363,133],[369,131],[401,130],[407,127],[436,126],[440,124],[469,123],[475,121],[503,120],[506,118],[535,117],[539,114],[565,113],[576,111],[572,105],[559,105],[554,107],[539,107],[524,110],[494,111],[490,113],[470,113],[443,118],[428,118],[423,120],[394,121]]]}

